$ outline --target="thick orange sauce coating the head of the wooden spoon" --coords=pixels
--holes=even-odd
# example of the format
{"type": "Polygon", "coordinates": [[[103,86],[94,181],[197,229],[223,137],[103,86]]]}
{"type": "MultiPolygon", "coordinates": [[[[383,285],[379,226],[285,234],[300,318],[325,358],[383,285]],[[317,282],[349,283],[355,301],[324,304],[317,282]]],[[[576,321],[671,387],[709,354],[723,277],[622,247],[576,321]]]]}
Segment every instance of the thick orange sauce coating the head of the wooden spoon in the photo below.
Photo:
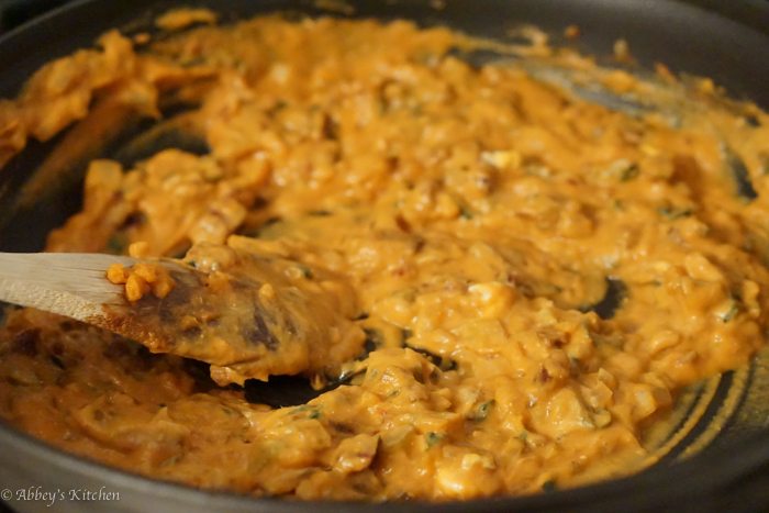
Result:
{"type": "Polygon", "coordinates": [[[233,236],[196,245],[186,266],[115,264],[107,278],[124,283],[127,303],[104,305],[105,319],[92,324],[153,353],[209,363],[221,386],[299,372],[322,381],[361,350],[356,295],[344,279],[279,252],[233,236]]]}

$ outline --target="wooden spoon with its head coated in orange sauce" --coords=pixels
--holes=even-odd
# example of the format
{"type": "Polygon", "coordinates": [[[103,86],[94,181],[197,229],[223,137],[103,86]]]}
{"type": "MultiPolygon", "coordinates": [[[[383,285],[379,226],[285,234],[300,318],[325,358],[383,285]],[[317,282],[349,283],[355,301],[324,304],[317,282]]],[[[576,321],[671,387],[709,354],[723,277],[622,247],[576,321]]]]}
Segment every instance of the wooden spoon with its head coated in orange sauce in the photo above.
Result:
{"type": "Polygon", "coordinates": [[[209,363],[219,384],[320,375],[360,352],[363,331],[323,283],[287,281],[278,272],[285,261],[275,258],[238,258],[232,269],[203,272],[175,259],[0,253],[0,300],[107,328],[153,353],[209,363]],[[107,279],[111,265],[141,261],[167,269],[175,282],[167,295],[129,301],[124,287],[107,279]]]}

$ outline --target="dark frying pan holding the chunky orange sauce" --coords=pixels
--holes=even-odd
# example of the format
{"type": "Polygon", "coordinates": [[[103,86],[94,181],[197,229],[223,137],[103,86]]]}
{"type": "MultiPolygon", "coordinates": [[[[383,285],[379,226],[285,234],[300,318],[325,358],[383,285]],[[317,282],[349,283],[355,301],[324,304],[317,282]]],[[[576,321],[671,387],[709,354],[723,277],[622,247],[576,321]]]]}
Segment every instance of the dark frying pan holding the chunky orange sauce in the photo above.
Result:
{"type": "MultiPolygon", "coordinates": [[[[90,46],[111,27],[137,32],[174,7],[210,7],[223,20],[270,11],[321,11],[301,0],[83,0],[70,3],[0,40],[0,98],[12,97],[44,63],[90,46]]],[[[422,25],[449,25],[503,38],[517,23],[555,34],[581,27],[579,49],[606,55],[616,38],[629,42],[644,66],[662,62],[675,71],[713,78],[732,97],[769,108],[769,2],[764,0],[428,0],[355,2],[354,16],[406,18],[422,25]]],[[[341,14],[335,14],[341,15],[341,14]]],[[[40,250],[45,235],[77,209],[82,168],[33,205],[18,191],[58,138],[31,143],[0,172],[0,249],[40,250]]],[[[0,495],[16,511],[115,512],[642,512],[769,510],[769,354],[749,366],[687,392],[684,419],[665,446],[659,464],[639,475],[589,487],[523,498],[464,503],[301,503],[207,492],[114,470],[64,454],[0,423],[0,495]],[[696,414],[694,414],[696,413],[696,414]],[[666,445],[667,444],[667,445],[666,445]],[[693,454],[693,456],[692,456],[693,454]],[[40,487],[40,488],[38,488],[40,487]],[[18,500],[19,490],[63,492],[65,500],[18,500]],[[71,492],[74,491],[74,492],[71,492]],[[97,494],[86,500],[85,492],[97,494]]]]}

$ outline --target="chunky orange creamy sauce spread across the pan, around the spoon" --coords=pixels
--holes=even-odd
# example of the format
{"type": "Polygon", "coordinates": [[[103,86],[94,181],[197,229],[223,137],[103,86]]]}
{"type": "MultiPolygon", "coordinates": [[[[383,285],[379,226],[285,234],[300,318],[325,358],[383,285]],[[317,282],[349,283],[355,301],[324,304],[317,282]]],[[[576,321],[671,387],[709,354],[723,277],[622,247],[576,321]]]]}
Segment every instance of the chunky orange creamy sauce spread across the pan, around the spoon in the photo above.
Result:
{"type": "Polygon", "coordinates": [[[675,125],[631,116],[516,66],[473,68],[448,54],[462,41],[264,18],[137,53],[111,33],[0,103],[0,163],[100,105],[194,104],[210,153],[93,161],[48,248],[279,254],[344,279],[374,349],[350,386],[270,409],[181,358],[15,310],[2,416],[78,455],[257,495],[469,499],[643,466],[676,392],[764,343],[769,119],[704,88],[675,125]],[[737,194],[735,158],[757,198],[737,194]],[[586,306],[608,280],[625,290],[604,320],[586,306]]]}

